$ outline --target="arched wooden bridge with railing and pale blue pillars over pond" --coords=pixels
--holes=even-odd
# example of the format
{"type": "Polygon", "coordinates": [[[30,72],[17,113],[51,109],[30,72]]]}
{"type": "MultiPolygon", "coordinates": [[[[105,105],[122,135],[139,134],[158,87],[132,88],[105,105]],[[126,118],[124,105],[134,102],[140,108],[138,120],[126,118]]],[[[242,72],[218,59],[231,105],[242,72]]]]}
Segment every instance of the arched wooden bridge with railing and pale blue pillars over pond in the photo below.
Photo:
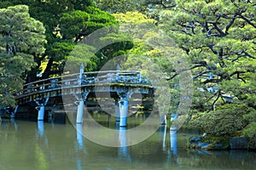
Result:
{"type": "Polygon", "coordinates": [[[131,95],[154,96],[154,87],[138,71],[91,71],[80,72],[61,77],[53,77],[24,85],[15,95],[17,105],[35,102],[38,106],[38,121],[44,120],[44,106],[50,98],[62,96],[63,103],[68,103],[68,96],[75,97],[77,123],[83,122],[84,101],[90,95],[96,98],[115,99],[116,120],[120,126],[126,126],[128,105],[131,95]],[[64,97],[63,97],[64,96],[64,97]],[[67,96],[67,97],[66,97],[67,96]]]}

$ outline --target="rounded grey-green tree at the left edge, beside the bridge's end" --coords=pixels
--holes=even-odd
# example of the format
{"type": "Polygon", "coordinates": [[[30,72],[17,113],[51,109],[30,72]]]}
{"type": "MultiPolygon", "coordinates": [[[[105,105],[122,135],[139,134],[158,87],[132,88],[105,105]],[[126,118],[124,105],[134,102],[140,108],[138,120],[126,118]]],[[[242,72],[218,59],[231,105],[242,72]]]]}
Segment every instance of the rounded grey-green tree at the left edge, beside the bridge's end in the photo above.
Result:
{"type": "Polygon", "coordinates": [[[25,71],[44,54],[44,26],[33,19],[26,5],[0,9],[0,105],[15,105],[14,94],[22,88],[25,71]]]}

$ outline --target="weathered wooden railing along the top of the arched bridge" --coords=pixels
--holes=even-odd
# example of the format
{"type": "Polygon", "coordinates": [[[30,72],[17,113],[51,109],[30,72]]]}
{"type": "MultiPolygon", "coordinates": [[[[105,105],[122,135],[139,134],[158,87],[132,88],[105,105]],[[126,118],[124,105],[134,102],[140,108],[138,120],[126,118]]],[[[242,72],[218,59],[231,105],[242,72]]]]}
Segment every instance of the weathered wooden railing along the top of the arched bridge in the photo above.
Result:
{"type": "Polygon", "coordinates": [[[149,84],[139,71],[90,71],[52,77],[24,85],[23,90],[16,95],[38,93],[40,91],[53,90],[63,87],[84,86],[97,83],[127,83],[127,84],[149,84]]]}

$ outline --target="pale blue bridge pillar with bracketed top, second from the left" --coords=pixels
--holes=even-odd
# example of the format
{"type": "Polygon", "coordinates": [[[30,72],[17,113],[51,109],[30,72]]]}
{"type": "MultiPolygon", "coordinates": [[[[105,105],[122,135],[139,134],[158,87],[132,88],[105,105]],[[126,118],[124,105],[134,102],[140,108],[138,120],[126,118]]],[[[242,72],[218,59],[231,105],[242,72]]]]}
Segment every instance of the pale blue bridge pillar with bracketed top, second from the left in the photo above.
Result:
{"type": "Polygon", "coordinates": [[[84,116],[84,101],[87,99],[89,92],[84,92],[81,95],[75,95],[78,101],[75,102],[78,105],[77,110],[77,123],[83,123],[83,116],[84,116]]]}

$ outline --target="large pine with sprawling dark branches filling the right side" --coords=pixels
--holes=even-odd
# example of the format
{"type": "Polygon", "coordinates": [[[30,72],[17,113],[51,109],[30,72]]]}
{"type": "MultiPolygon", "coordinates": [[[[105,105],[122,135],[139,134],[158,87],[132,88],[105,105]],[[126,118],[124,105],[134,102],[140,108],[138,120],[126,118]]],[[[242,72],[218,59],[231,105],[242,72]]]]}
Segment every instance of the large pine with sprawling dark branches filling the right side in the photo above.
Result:
{"type": "Polygon", "coordinates": [[[256,107],[255,12],[253,1],[239,0],[177,0],[176,9],[162,11],[160,26],[189,55],[195,108],[256,107]]]}

